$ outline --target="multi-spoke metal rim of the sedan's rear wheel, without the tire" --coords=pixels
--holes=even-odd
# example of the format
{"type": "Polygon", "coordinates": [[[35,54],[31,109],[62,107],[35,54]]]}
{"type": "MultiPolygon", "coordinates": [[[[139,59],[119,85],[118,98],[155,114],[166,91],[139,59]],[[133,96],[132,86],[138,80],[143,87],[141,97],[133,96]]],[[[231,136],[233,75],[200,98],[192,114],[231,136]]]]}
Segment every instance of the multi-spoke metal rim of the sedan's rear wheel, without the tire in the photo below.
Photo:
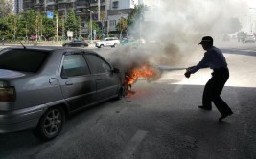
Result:
{"type": "Polygon", "coordinates": [[[45,117],[43,129],[48,136],[53,136],[58,133],[62,124],[62,117],[58,109],[53,109],[48,112],[45,117]]]}

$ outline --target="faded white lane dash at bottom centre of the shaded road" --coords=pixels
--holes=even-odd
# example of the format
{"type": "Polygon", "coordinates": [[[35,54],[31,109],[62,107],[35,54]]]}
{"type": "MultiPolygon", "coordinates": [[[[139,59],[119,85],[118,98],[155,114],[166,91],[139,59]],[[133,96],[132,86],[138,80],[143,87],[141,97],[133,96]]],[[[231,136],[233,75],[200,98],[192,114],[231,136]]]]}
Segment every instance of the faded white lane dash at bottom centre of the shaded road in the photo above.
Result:
{"type": "MultiPolygon", "coordinates": [[[[127,147],[121,154],[121,159],[128,159],[132,157],[132,154],[135,152],[136,148],[141,143],[142,139],[146,136],[147,131],[138,130],[133,137],[129,140],[127,147]]],[[[120,159],[119,158],[119,159],[120,159]]]]}

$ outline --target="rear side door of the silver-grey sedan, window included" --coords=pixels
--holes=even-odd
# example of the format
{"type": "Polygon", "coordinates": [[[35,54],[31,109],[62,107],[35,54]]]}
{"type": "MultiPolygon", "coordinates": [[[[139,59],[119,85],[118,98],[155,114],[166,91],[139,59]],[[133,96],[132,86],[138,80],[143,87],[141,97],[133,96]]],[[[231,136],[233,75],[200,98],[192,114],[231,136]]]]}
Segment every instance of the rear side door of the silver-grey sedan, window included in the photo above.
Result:
{"type": "Polygon", "coordinates": [[[96,101],[96,82],[83,53],[65,54],[59,83],[70,111],[96,101]]]}

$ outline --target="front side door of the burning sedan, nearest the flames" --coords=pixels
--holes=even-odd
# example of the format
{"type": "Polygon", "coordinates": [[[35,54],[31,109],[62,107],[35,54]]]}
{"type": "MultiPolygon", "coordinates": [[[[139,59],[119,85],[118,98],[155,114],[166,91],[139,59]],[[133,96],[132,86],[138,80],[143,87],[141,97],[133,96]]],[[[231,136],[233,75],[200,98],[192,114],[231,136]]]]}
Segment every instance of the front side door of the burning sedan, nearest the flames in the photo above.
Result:
{"type": "Polygon", "coordinates": [[[96,54],[85,54],[91,73],[96,79],[97,99],[104,101],[114,97],[119,89],[120,80],[104,58],[96,54]]]}

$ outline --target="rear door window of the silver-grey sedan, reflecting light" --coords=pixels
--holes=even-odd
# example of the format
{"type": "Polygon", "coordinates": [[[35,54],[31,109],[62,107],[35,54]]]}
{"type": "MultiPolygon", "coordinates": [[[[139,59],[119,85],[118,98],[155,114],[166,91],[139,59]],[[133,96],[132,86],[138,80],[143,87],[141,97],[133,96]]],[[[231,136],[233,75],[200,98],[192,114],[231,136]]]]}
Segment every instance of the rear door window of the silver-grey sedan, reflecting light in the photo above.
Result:
{"type": "Polygon", "coordinates": [[[66,55],[63,60],[61,77],[69,78],[90,74],[89,67],[82,55],[66,55]]]}

